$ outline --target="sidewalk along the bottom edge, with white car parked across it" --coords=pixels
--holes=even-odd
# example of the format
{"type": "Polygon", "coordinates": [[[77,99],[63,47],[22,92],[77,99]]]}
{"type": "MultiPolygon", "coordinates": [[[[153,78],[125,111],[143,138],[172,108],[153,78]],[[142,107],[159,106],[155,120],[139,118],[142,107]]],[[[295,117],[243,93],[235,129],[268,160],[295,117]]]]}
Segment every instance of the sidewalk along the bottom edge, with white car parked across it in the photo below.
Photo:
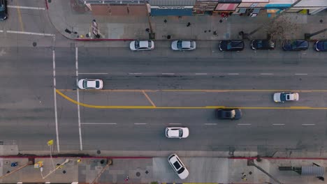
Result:
{"type": "MultiPolygon", "coordinates": [[[[0,183],[92,183],[110,158],[53,158],[50,157],[3,157],[0,158],[1,175],[14,172],[30,160],[43,162],[43,171],[28,165],[0,179],[0,183]],[[68,163],[55,169],[66,159],[68,163]],[[80,162],[79,162],[80,160],[80,162]],[[12,167],[11,164],[18,165],[12,167]],[[52,173],[52,174],[50,174],[52,173]]],[[[181,180],[168,164],[167,158],[112,158],[112,164],[103,171],[97,183],[276,183],[262,171],[247,164],[247,158],[180,158],[189,169],[189,177],[181,180]],[[245,176],[245,177],[244,177],[245,176]]],[[[295,171],[279,171],[279,166],[327,167],[327,160],[298,160],[262,158],[254,163],[281,183],[324,183],[315,176],[301,176],[295,171]]],[[[326,174],[325,174],[326,178],[326,174]]]]}

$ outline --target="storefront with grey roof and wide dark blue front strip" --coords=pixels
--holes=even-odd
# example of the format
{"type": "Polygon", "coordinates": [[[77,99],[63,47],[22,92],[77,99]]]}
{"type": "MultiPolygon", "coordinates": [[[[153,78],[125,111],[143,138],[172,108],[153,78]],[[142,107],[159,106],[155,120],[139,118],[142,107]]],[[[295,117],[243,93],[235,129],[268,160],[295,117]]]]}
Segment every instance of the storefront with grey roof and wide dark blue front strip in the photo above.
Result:
{"type": "Polygon", "coordinates": [[[191,16],[196,0],[148,0],[151,16],[191,16]]]}

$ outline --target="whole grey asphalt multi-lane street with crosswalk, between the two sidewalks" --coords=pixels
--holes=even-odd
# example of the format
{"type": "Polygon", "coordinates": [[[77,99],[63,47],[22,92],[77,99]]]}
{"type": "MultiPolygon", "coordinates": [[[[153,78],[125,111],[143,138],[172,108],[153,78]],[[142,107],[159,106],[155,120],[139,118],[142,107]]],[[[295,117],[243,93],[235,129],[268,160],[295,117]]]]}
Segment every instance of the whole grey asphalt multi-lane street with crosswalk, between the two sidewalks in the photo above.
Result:
{"type": "Polygon", "coordinates": [[[48,150],[54,139],[58,151],[263,155],[326,146],[327,55],[312,47],[253,51],[246,42],[242,52],[219,52],[217,42],[203,41],[194,52],[173,52],[161,41],[154,51],[131,52],[129,42],[66,41],[42,9],[20,11],[0,23],[3,144],[48,150]],[[103,79],[103,90],[78,90],[82,78],[103,79]],[[277,104],[277,91],[296,91],[300,100],[277,104]],[[240,108],[243,117],[217,120],[219,107],[240,108]],[[190,135],[167,139],[167,126],[188,127],[190,135]]]}

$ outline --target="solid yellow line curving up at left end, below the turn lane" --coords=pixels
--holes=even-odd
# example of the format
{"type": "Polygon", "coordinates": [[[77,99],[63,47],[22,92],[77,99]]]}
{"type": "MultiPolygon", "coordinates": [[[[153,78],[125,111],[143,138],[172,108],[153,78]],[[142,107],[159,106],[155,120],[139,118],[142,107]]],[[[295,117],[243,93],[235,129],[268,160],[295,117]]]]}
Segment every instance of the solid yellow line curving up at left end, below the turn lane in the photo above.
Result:
{"type": "Polygon", "coordinates": [[[94,109],[327,109],[327,107],[301,107],[301,106],[293,106],[293,107],[226,107],[226,106],[205,106],[205,107],[154,107],[154,106],[129,106],[129,105],[88,105],[82,102],[77,102],[69,98],[64,93],[61,93],[58,89],[56,92],[61,95],[66,100],[73,102],[76,105],[80,105],[83,107],[89,107],[94,109]]]}

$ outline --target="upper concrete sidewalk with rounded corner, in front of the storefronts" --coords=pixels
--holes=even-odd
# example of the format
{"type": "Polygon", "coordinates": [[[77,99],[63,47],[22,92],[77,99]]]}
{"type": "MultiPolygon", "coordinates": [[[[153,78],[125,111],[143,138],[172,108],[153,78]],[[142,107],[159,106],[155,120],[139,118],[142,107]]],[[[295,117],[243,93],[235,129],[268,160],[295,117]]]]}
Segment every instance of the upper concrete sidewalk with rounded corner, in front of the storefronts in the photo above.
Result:
{"type": "MultiPolygon", "coordinates": [[[[56,0],[48,3],[48,14],[52,24],[66,38],[84,40],[90,33],[89,38],[95,40],[92,34],[92,21],[96,20],[101,35],[99,40],[149,39],[149,33],[146,31],[150,27],[147,16],[93,16],[85,7],[76,5],[72,3],[73,1],[75,0],[56,0]],[[65,32],[65,29],[72,33],[65,32]]],[[[303,39],[304,33],[314,33],[327,26],[327,13],[324,12],[318,15],[285,14],[282,17],[291,22],[291,26],[284,25],[282,28],[287,39],[303,39]]],[[[240,39],[238,34],[240,31],[249,33],[270,19],[261,11],[258,17],[231,15],[224,20],[219,16],[208,15],[170,16],[150,17],[150,22],[156,34],[155,40],[168,40],[167,36],[170,36],[170,40],[226,40],[240,39]],[[191,26],[187,26],[188,22],[191,26]]],[[[262,38],[266,38],[263,29],[252,35],[252,39],[262,38]]],[[[324,32],[312,36],[311,39],[326,38],[327,32],[324,32]]]]}

